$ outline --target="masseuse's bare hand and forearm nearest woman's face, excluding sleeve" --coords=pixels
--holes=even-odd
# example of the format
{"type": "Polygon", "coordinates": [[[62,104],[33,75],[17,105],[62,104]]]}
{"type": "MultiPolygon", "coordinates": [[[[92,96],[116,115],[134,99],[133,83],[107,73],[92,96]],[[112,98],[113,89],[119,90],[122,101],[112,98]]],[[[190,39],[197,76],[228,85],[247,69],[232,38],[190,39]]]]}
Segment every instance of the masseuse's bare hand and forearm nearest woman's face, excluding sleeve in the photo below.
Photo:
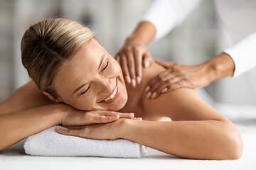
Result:
{"type": "Polygon", "coordinates": [[[150,22],[139,23],[134,32],[127,37],[123,47],[117,52],[124,79],[128,84],[136,86],[142,79],[143,67],[148,67],[152,58],[146,45],[154,38],[156,28],[150,22]]]}

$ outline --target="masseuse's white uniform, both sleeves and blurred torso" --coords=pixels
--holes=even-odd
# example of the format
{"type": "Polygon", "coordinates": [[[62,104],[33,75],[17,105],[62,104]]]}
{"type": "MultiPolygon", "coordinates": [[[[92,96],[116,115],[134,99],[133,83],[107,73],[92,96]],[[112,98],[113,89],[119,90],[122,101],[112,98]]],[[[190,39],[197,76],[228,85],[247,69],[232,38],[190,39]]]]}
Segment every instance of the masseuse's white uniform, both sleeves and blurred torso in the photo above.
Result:
{"type": "MultiPolygon", "coordinates": [[[[154,40],[159,40],[174,27],[182,23],[186,16],[188,16],[188,13],[190,13],[199,2],[200,0],[156,0],[151,4],[141,21],[149,21],[154,24],[156,27],[154,40]]],[[[237,77],[256,67],[256,2],[254,1],[253,4],[250,4],[252,1],[246,0],[216,2],[218,13],[220,13],[220,17],[223,18],[223,22],[234,40],[238,39],[236,38],[238,34],[250,35],[247,38],[244,37],[245,39],[243,40],[239,38],[241,41],[238,42],[238,44],[225,50],[235,62],[234,77],[237,77]],[[243,10],[239,10],[240,6],[242,6],[243,10]],[[233,11],[233,14],[225,11],[233,11]],[[245,25],[245,23],[247,23],[247,25],[245,25]]]]}

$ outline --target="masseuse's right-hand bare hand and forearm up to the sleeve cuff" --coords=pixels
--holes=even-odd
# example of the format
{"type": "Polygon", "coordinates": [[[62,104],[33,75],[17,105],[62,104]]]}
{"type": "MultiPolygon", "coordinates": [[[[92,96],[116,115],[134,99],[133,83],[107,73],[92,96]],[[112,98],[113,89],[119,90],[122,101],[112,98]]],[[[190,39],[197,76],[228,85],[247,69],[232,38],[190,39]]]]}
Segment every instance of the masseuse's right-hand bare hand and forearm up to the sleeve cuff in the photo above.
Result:
{"type": "Polygon", "coordinates": [[[196,89],[208,86],[212,81],[232,77],[235,72],[235,63],[232,57],[225,52],[197,65],[159,60],[156,60],[156,63],[166,70],[149,81],[146,87],[147,98],[156,98],[181,87],[196,89]]]}

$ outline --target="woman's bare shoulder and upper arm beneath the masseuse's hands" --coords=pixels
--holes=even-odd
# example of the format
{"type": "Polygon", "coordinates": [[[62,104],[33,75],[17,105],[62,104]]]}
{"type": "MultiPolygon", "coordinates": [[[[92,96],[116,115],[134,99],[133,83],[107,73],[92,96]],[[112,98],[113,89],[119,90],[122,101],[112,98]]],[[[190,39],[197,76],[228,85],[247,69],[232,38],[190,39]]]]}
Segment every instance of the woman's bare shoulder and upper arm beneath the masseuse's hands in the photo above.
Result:
{"type": "MultiPolygon", "coordinates": [[[[142,84],[146,84],[165,69],[153,63],[144,69],[142,84]]],[[[171,120],[220,120],[226,119],[214,108],[209,106],[193,89],[181,88],[170,93],[161,94],[158,98],[148,99],[142,94],[144,112],[154,117],[169,117],[171,120]]]]}

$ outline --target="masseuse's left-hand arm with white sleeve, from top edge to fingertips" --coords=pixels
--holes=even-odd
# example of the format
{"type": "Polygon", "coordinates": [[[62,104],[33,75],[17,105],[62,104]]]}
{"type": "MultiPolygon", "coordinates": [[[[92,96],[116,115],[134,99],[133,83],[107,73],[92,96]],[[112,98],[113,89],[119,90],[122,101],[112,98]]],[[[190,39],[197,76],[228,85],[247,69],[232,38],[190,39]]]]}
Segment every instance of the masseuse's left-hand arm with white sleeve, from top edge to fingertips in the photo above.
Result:
{"type": "Polygon", "coordinates": [[[127,37],[116,55],[127,83],[131,83],[132,86],[140,83],[142,63],[146,67],[151,61],[146,45],[153,39],[159,40],[181,24],[200,1],[156,0],[151,4],[137,28],[127,37]]]}

